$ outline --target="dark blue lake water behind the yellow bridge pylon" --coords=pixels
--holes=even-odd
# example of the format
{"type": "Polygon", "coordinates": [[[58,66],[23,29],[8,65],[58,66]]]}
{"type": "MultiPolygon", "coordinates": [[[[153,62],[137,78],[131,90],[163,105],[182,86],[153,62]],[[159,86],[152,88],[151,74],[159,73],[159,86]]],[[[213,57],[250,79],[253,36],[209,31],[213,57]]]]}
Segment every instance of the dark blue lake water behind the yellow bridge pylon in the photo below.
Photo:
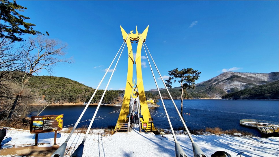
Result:
{"type": "MultiPolygon", "coordinates": [[[[174,100],[180,111],[181,100],[174,100]]],[[[164,100],[168,115],[174,129],[182,128],[183,124],[174,108],[172,100],[164,100]]],[[[161,107],[149,108],[154,125],[157,128],[169,129],[168,120],[161,101],[161,107]]],[[[48,106],[41,115],[64,114],[63,127],[75,124],[85,105],[79,106],[48,106]]],[[[78,127],[89,125],[97,106],[88,106],[78,127]],[[86,121],[88,120],[88,121],[86,121]],[[85,121],[85,122],[82,122],[85,121]]],[[[100,106],[92,128],[115,126],[121,106],[100,106]],[[116,112],[114,112],[116,111],[116,112]],[[111,113],[113,112],[113,113],[111,113]]],[[[206,127],[219,127],[223,130],[237,129],[252,132],[261,137],[257,129],[247,128],[239,124],[241,119],[260,119],[279,121],[279,100],[183,100],[183,115],[189,130],[200,130],[206,127]]],[[[152,124],[153,125],[153,124],[152,124]]],[[[72,125],[73,126],[73,125],[72,125]]]]}

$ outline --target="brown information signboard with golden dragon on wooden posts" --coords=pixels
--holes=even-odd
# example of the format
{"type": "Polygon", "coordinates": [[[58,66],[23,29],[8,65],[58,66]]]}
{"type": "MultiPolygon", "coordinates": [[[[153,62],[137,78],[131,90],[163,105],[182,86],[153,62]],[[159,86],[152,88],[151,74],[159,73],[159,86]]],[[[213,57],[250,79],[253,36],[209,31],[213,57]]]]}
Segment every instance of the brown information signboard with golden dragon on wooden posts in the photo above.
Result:
{"type": "Polygon", "coordinates": [[[38,134],[62,130],[63,116],[64,115],[32,116],[30,124],[30,133],[38,134]]]}

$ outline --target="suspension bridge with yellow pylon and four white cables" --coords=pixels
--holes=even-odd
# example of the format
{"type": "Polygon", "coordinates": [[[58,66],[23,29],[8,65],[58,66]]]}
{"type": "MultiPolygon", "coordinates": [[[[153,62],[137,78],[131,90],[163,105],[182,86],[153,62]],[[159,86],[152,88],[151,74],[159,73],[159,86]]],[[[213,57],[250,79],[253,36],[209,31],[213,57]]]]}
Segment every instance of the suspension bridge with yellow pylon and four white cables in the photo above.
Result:
{"type": "MultiPolygon", "coordinates": [[[[150,51],[148,50],[147,46],[146,46],[146,36],[147,36],[147,32],[148,32],[148,27],[146,27],[146,29],[142,32],[139,33],[137,31],[137,27],[136,27],[136,32],[133,33],[133,31],[130,31],[130,33],[126,33],[126,31],[120,26],[121,32],[122,32],[122,37],[123,37],[123,43],[120,46],[118,52],[116,53],[114,59],[112,60],[110,66],[107,68],[107,71],[105,72],[105,75],[103,76],[103,78],[101,79],[99,85],[97,86],[96,90],[94,91],[92,97],[90,98],[89,102],[86,104],[83,112],[81,113],[79,119],[77,120],[75,126],[73,127],[72,131],[70,132],[70,134],[68,135],[68,138],[66,139],[66,141],[60,145],[60,147],[51,155],[52,157],[59,157],[59,156],[64,156],[65,154],[65,150],[67,147],[67,143],[69,141],[69,139],[71,138],[73,132],[75,131],[77,125],[79,124],[83,114],[85,113],[86,109],[88,108],[90,102],[92,101],[93,97],[96,94],[96,91],[99,89],[101,83],[103,82],[105,76],[107,75],[109,69],[111,68],[112,64],[115,62],[116,58],[118,57],[116,64],[114,66],[114,69],[111,73],[111,76],[109,78],[109,81],[107,82],[107,85],[105,87],[105,90],[103,92],[103,95],[101,97],[100,102],[98,103],[98,106],[96,108],[96,111],[90,121],[90,124],[88,126],[88,129],[84,135],[83,141],[81,142],[81,144],[77,147],[77,149],[75,149],[75,151],[71,154],[71,156],[75,157],[75,156],[83,156],[83,148],[84,148],[84,143],[85,140],[88,136],[88,133],[91,129],[91,126],[94,122],[94,119],[96,118],[96,114],[98,112],[98,109],[101,105],[101,102],[104,98],[105,92],[107,91],[107,87],[111,81],[111,78],[114,74],[114,71],[116,69],[116,66],[118,65],[118,61],[122,55],[122,52],[124,50],[124,47],[127,45],[128,48],[128,67],[127,67],[127,81],[126,81],[126,87],[125,87],[125,93],[124,93],[124,98],[123,98],[123,102],[122,102],[122,107],[120,109],[120,113],[119,113],[119,117],[118,120],[116,122],[116,126],[114,128],[115,133],[117,134],[118,132],[129,132],[130,127],[133,127],[134,130],[139,131],[139,132],[152,132],[155,131],[155,127],[154,127],[154,122],[153,119],[150,115],[148,106],[147,106],[147,100],[146,100],[146,96],[144,93],[144,83],[143,83],[143,78],[142,78],[142,67],[141,67],[141,50],[142,47],[144,48],[144,52],[146,54],[149,66],[150,66],[150,70],[152,72],[153,78],[154,78],[154,82],[156,84],[156,87],[159,91],[159,95],[161,98],[161,102],[163,104],[164,107],[164,111],[165,111],[165,116],[168,119],[168,123],[170,125],[171,131],[172,131],[172,136],[174,139],[174,153],[176,156],[186,156],[184,150],[182,149],[182,147],[180,146],[180,144],[178,143],[178,140],[176,139],[176,136],[174,134],[174,130],[172,127],[172,124],[170,122],[170,117],[168,115],[168,112],[165,108],[165,104],[164,101],[162,99],[157,81],[155,79],[155,75],[153,72],[153,69],[151,67],[151,63],[150,63],[150,59],[152,61],[152,63],[154,64],[154,66],[156,67],[156,70],[161,78],[161,81],[163,82],[163,84],[165,85],[165,82],[155,64],[154,59],[152,58],[152,55],[150,53],[150,51]],[[133,49],[132,49],[132,44],[137,44],[137,48],[136,48],[136,56],[135,58],[133,57],[133,49]],[[121,52],[120,52],[121,50],[121,52]],[[118,55],[119,54],[119,55],[118,55]],[[150,59],[149,57],[150,56],[150,59]],[[133,68],[136,68],[136,74],[133,74],[133,68]],[[136,80],[133,80],[133,76],[136,76],[136,80]],[[136,83],[135,83],[136,81],[136,83]]],[[[168,91],[167,86],[165,85],[165,88],[168,91]]],[[[192,150],[193,150],[193,156],[201,156],[201,157],[205,157],[206,155],[204,154],[204,152],[202,152],[202,150],[200,149],[200,147],[194,142],[193,138],[191,137],[191,134],[182,118],[182,116],[180,115],[179,110],[176,107],[176,104],[174,103],[174,100],[172,99],[172,96],[170,95],[170,92],[168,91],[168,94],[172,100],[172,103],[174,104],[174,108],[176,109],[181,122],[184,126],[184,128],[187,131],[187,134],[189,136],[189,140],[192,143],[192,150]]],[[[98,117],[97,117],[98,118],[98,117]]],[[[156,122],[155,122],[156,124],[156,122]]]]}

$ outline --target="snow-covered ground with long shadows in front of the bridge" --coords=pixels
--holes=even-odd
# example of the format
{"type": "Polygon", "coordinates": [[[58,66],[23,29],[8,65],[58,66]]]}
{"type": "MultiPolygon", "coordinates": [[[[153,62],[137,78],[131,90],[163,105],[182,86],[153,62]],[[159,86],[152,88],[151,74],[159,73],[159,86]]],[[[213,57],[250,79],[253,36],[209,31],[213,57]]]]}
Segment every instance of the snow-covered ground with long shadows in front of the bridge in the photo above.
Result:
{"type": "MultiPolygon", "coordinates": [[[[69,133],[57,133],[57,144],[61,145],[69,133]]],[[[70,156],[83,140],[84,134],[74,133],[68,141],[65,156],[70,156]]],[[[195,143],[207,155],[216,151],[225,151],[231,156],[244,152],[241,156],[279,156],[279,137],[232,137],[218,135],[192,135],[195,143]]],[[[193,156],[188,135],[177,134],[177,141],[187,156],[193,156]]],[[[39,147],[51,147],[54,132],[38,135],[39,147]]],[[[29,130],[7,128],[3,140],[3,149],[10,147],[31,146],[35,143],[35,134],[29,130]]],[[[16,154],[10,154],[10,156],[16,154]]],[[[175,156],[172,134],[155,135],[149,132],[118,132],[104,134],[103,130],[88,134],[84,143],[83,156],[175,156]]]]}

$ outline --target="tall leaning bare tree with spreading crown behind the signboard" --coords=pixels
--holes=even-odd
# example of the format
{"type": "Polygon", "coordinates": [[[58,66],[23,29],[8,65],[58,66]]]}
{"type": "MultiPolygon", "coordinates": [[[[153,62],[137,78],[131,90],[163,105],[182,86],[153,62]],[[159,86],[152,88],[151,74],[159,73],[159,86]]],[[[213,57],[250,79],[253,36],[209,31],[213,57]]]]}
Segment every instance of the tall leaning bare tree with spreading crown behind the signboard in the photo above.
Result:
{"type": "Polygon", "coordinates": [[[66,48],[67,44],[42,36],[29,38],[25,44],[21,44],[25,70],[21,79],[21,90],[16,94],[7,122],[10,121],[18,98],[34,73],[38,74],[45,69],[51,74],[57,63],[72,63],[72,59],[64,58],[66,48]]]}

